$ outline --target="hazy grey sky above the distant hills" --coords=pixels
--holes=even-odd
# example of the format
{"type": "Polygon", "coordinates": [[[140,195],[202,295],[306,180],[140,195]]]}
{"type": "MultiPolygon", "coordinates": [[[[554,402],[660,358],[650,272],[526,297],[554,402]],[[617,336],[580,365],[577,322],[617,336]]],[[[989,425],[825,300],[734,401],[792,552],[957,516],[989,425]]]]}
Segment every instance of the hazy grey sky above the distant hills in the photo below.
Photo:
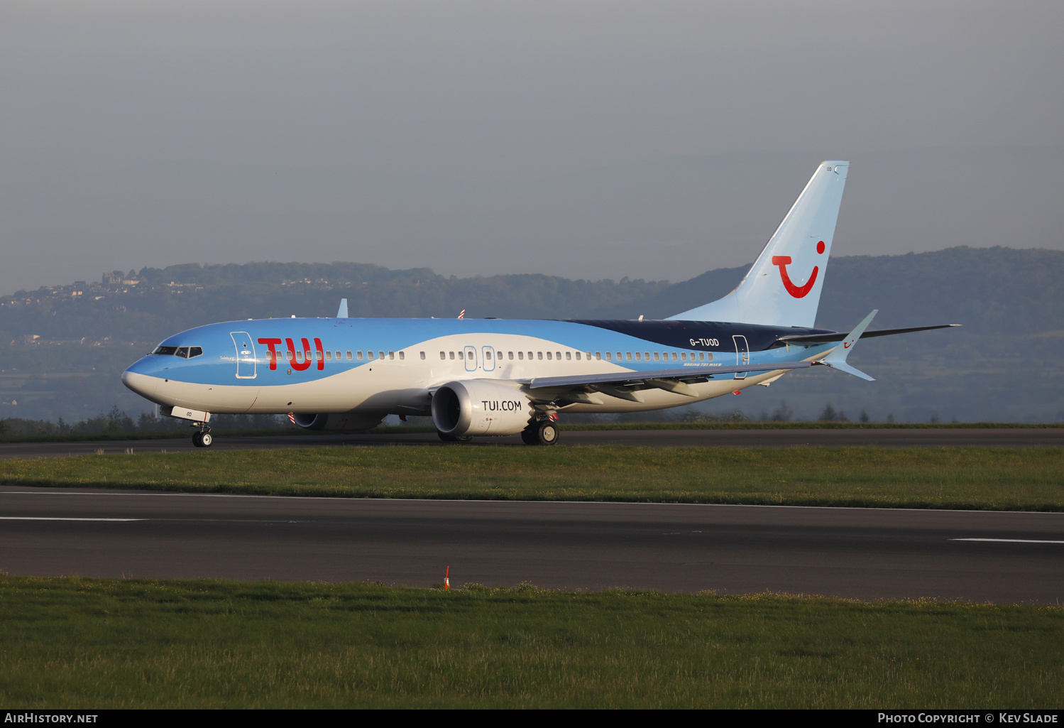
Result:
{"type": "Polygon", "coordinates": [[[0,0],[0,293],[252,260],[684,280],[1064,249],[1064,3],[0,0]]]}

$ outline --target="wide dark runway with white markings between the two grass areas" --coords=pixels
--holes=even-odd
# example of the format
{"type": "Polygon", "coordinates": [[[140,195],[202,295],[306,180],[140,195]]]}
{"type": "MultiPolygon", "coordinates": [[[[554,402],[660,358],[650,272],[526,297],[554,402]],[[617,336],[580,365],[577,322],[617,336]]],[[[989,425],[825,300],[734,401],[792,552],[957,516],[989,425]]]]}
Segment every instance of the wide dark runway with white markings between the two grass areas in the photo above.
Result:
{"type": "Polygon", "coordinates": [[[1059,603],[1064,514],[0,486],[0,570],[1059,603]]]}

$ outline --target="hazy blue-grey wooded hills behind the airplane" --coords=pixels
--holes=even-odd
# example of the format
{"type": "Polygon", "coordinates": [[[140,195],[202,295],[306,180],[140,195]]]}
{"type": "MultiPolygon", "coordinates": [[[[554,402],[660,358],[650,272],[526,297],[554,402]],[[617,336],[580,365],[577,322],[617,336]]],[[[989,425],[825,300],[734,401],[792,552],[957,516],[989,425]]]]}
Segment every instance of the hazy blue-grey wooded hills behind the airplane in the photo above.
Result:
{"type": "MultiPolygon", "coordinates": [[[[161,338],[202,324],[267,316],[661,318],[724,296],[748,266],[681,283],[554,276],[445,277],[355,263],[196,264],[115,271],[100,283],[0,297],[0,417],[67,420],[146,403],[118,375],[161,338]],[[18,404],[12,406],[14,400],[18,404]],[[5,403],[3,403],[5,402],[5,403]]],[[[801,373],[710,408],[757,415],[786,400],[815,416],[831,401],[855,418],[1064,419],[1064,252],[957,247],[831,261],[818,325],[845,330],[963,324],[863,342],[851,361],[879,382],[801,373]]]]}

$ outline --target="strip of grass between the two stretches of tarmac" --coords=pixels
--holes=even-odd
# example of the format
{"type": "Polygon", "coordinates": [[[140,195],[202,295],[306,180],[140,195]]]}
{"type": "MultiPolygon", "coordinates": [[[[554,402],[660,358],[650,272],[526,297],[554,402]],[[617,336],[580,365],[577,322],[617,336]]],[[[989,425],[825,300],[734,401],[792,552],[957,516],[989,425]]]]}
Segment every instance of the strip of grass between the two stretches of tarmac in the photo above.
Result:
{"type": "Polygon", "coordinates": [[[375,498],[1064,511],[1062,448],[340,447],[0,461],[0,483],[375,498]]]}

